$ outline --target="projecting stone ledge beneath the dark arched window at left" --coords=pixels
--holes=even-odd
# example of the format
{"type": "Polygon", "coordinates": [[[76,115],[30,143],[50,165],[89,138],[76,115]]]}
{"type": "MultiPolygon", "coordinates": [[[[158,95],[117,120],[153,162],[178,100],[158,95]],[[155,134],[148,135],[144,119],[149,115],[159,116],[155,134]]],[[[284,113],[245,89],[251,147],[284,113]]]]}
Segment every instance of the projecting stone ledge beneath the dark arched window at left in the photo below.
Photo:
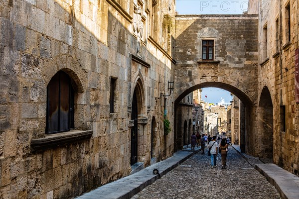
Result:
{"type": "Polygon", "coordinates": [[[79,142],[91,138],[93,130],[72,130],[62,133],[45,135],[45,137],[32,139],[30,146],[33,151],[49,149],[63,144],[79,142]]]}

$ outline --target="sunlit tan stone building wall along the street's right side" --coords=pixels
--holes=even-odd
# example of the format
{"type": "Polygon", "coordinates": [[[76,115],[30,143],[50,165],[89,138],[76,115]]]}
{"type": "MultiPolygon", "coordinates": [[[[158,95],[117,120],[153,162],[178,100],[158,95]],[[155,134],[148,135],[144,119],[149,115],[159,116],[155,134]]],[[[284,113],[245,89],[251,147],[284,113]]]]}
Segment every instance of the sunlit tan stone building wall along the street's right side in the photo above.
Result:
{"type": "Polygon", "coordinates": [[[274,163],[299,175],[299,105],[295,101],[295,50],[299,48],[299,4],[298,0],[264,1],[265,6],[259,7],[259,54],[264,55],[267,52],[267,57],[259,58],[259,104],[266,100],[273,103],[274,163]],[[291,17],[290,40],[287,27],[288,3],[291,17]],[[263,33],[266,29],[268,34],[265,46],[262,44],[265,42],[266,36],[263,33]],[[263,94],[265,88],[269,90],[270,97],[263,94]],[[283,106],[285,113],[281,113],[283,106]],[[282,128],[284,123],[285,129],[282,128]]]}

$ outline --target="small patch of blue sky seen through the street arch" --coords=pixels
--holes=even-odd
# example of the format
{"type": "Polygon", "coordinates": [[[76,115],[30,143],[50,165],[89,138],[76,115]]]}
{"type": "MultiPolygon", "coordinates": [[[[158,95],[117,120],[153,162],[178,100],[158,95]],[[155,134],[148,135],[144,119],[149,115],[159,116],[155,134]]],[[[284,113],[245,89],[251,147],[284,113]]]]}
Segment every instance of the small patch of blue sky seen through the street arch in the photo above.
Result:
{"type": "Polygon", "coordinates": [[[221,98],[223,98],[225,102],[230,102],[232,100],[232,96],[230,95],[230,92],[226,90],[219,89],[219,88],[212,88],[212,87],[202,89],[201,99],[205,100],[206,102],[216,104],[221,100],[221,98]]]}

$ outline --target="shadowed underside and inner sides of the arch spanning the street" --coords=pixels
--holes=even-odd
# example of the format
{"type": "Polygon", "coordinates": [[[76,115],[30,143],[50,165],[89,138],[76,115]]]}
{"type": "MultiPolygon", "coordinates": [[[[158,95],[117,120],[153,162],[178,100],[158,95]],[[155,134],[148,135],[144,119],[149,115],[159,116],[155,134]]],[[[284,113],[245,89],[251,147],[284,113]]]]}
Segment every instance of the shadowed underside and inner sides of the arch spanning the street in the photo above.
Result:
{"type": "Polygon", "coordinates": [[[249,144],[249,143],[254,143],[254,139],[252,137],[252,134],[254,133],[254,126],[255,126],[255,106],[252,100],[241,90],[238,88],[231,86],[229,84],[221,83],[221,82],[206,82],[206,83],[201,83],[197,84],[195,86],[192,86],[185,91],[183,91],[181,94],[178,95],[178,97],[175,100],[174,103],[174,149],[175,151],[180,150],[182,143],[180,142],[180,133],[176,133],[177,126],[181,126],[181,118],[180,118],[180,113],[178,110],[178,104],[179,102],[189,93],[199,90],[202,88],[209,88],[209,87],[215,87],[219,89],[226,90],[233,95],[235,95],[239,100],[240,100],[240,113],[239,113],[239,145],[241,148],[242,152],[246,152],[248,154],[255,154],[255,146],[254,144],[249,144]],[[179,114],[177,114],[179,113],[179,114]],[[251,136],[249,136],[251,135],[251,136]]]}

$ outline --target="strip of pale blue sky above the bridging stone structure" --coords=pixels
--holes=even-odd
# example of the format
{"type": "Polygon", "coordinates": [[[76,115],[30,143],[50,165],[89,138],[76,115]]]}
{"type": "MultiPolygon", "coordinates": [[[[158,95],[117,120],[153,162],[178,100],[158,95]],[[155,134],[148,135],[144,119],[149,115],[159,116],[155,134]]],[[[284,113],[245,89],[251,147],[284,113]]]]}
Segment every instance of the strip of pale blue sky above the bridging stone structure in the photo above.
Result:
{"type": "Polygon", "coordinates": [[[242,14],[248,0],[176,0],[178,14],[242,14]]]}

